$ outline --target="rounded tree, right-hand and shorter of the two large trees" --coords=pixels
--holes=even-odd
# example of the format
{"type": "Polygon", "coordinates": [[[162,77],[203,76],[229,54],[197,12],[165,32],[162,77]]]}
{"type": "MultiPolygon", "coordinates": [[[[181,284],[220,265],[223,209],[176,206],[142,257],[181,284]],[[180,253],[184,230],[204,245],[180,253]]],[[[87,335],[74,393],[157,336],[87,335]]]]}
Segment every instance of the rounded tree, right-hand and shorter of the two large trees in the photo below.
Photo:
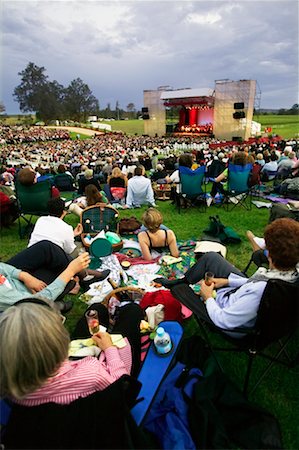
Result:
{"type": "Polygon", "coordinates": [[[85,121],[88,115],[98,113],[99,102],[88,85],[81,78],[76,78],[64,90],[64,107],[71,119],[85,121]]]}

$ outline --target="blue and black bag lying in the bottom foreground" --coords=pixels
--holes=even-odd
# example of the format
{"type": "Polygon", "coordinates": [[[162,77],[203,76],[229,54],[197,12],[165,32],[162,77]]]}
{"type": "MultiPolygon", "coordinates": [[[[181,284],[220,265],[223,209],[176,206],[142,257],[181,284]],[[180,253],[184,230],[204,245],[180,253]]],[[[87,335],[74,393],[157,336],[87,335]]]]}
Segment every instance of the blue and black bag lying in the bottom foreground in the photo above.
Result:
{"type": "Polygon", "coordinates": [[[244,397],[200,336],[184,339],[176,358],[143,422],[162,448],[282,448],[276,418],[244,397]]]}

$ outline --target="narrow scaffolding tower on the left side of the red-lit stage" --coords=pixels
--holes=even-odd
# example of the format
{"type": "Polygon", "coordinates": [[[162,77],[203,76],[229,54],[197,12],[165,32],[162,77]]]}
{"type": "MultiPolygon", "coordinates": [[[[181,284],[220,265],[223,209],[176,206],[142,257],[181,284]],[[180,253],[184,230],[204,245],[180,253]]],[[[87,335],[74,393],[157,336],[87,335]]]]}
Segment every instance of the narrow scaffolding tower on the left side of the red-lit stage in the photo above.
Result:
{"type": "Polygon", "coordinates": [[[143,104],[148,108],[149,119],[144,120],[144,133],[163,136],[166,131],[166,112],[161,94],[164,89],[143,91],[143,104]]]}

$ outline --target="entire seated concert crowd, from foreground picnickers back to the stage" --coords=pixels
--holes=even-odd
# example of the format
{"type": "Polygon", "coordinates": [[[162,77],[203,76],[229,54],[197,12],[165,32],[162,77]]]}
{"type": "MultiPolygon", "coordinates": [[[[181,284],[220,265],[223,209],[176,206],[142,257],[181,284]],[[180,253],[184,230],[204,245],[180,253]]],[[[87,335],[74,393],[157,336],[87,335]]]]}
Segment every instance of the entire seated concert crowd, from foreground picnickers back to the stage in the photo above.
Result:
{"type": "MultiPolygon", "coordinates": [[[[124,208],[148,205],[138,243],[142,258],[151,263],[153,251],[180,256],[175,231],[163,224],[163,215],[156,207],[152,181],[174,184],[180,193],[179,166],[192,170],[205,165],[207,179],[213,179],[212,203],[216,194],[226,189],[228,162],[259,166],[264,176],[267,164],[276,162],[276,171],[283,171],[283,179],[296,179],[299,170],[297,141],[241,146],[223,143],[212,150],[212,139],[112,133],[72,141],[66,132],[40,127],[2,127],[0,136],[2,211],[3,196],[16,207],[14,189],[18,183],[30,187],[49,180],[52,186],[48,215],[37,220],[28,247],[0,263],[1,396],[28,407],[50,402],[68,405],[105,389],[122,375],[136,377],[140,368],[139,327],[144,311],[134,302],[119,309],[113,326],[102,304],[94,303],[88,308],[98,311],[101,325],[109,330],[91,336],[101,350],[100,356],[68,359],[70,336],[61,319],[72,304],[63,301],[64,295],[78,293],[80,287],[86,290],[94,281],[106,280],[110,270],[88,268],[90,256],[80,252],[81,244],[76,242],[82,225],[73,229],[66,224],[67,211],[80,216],[85,208],[97,203],[110,202],[124,208]],[[191,148],[186,148],[188,145],[191,148]],[[57,176],[69,177],[70,185],[78,192],[78,198],[70,205],[60,198],[55,185],[57,176]],[[113,344],[113,333],[124,336],[123,347],[113,344]]],[[[273,167],[272,164],[269,173],[273,167]]],[[[8,209],[5,211],[6,214],[8,209]]],[[[14,220],[13,209],[11,216],[14,220]]],[[[252,234],[248,233],[248,238],[252,243],[252,234]]],[[[215,325],[228,332],[235,327],[250,329],[268,280],[299,281],[299,222],[288,217],[273,220],[265,229],[264,247],[268,268],[258,269],[250,279],[220,254],[209,252],[183,278],[157,278],[156,286],[160,284],[175,293],[176,285],[199,283],[202,307],[215,325]],[[213,273],[209,285],[204,281],[207,271],[213,273]]],[[[72,338],[88,337],[82,317],[72,338]]]]}

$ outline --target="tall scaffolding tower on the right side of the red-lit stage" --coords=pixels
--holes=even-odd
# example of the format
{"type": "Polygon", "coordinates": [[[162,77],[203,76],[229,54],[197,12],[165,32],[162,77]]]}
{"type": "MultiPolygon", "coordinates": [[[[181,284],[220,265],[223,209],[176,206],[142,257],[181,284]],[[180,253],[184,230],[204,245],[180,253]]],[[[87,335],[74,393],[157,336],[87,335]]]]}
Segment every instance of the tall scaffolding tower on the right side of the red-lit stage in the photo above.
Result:
{"type": "Polygon", "coordinates": [[[255,80],[216,80],[214,104],[214,135],[222,140],[247,140],[251,135],[251,122],[255,106],[255,80]],[[236,110],[234,103],[244,103],[236,110]],[[244,112],[244,118],[235,119],[235,112],[244,112]]]}

